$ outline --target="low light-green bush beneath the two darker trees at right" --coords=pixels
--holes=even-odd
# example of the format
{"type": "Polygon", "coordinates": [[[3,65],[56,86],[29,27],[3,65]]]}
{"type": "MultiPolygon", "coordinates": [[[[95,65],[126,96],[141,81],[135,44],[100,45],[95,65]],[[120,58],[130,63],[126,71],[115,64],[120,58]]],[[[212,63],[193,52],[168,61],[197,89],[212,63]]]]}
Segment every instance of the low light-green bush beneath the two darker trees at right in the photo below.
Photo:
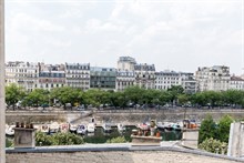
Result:
{"type": "Polygon", "coordinates": [[[227,143],[221,142],[218,140],[214,140],[213,137],[206,139],[201,144],[199,144],[199,149],[205,150],[212,153],[227,153],[227,143]]]}

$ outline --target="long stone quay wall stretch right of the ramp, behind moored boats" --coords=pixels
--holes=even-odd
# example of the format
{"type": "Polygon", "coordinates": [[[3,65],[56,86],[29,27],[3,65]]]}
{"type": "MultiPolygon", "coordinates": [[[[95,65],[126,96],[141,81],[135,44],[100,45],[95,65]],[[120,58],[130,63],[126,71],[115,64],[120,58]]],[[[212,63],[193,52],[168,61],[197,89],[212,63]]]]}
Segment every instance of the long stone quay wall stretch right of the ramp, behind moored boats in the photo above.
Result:
{"type": "Polygon", "coordinates": [[[207,114],[215,121],[228,114],[235,119],[244,120],[244,110],[132,110],[132,111],[99,111],[93,115],[100,121],[111,121],[114,123],[138,124],[148,120],[177,122],[184,119],[193,119],[201,122],[207,114]]]}

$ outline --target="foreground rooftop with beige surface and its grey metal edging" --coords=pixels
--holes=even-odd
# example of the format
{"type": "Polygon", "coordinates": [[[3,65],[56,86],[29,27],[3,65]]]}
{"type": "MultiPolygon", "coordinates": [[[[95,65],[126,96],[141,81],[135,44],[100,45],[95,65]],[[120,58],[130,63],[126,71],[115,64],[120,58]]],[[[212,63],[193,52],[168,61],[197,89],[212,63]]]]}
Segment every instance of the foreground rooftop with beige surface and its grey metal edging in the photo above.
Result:
{"type": "Polygon", "coordinates": [[[7,149],[7,163],[238,163],[244,159],[230,157],[199,150],[184,149],[177,142],[162,142],[161,146],[132,146],[131,143],[84,144],[7,149]]]}

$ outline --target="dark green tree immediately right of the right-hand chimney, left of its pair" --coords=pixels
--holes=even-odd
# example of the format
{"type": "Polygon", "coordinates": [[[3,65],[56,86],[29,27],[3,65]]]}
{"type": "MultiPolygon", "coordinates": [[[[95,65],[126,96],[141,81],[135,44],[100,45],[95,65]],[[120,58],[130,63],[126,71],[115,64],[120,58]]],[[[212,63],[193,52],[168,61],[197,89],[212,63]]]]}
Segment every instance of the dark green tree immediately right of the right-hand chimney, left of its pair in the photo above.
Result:
{"type": "Polygon", "coordinates": [[[206,115],[202,121],[199,134],[199,144],[206,139],[215,137],[216,123],[213,121],[212,115],[206,115]]]}

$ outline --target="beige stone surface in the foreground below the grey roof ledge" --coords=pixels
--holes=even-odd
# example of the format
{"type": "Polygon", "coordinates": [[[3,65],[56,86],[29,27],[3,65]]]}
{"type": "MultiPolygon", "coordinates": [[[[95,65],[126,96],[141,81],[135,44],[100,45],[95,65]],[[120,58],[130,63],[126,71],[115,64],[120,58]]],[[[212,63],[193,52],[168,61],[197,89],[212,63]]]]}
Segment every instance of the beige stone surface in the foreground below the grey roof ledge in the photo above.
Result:
{"type": "Polygon", "coordinates": [[[7,163],[235,163],[171,151],[8,153],[7,163]]]}

